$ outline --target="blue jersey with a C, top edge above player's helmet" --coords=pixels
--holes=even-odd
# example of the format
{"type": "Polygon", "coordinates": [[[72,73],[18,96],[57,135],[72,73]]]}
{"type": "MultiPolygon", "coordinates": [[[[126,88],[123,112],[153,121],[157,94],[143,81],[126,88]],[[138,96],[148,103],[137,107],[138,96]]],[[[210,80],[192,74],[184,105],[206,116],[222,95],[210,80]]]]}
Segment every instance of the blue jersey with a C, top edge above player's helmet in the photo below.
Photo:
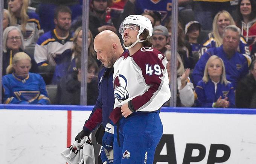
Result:
{"type": "Polygon", "coordinates": [[[137,0],[135,2],[136,14],[145,10],[158,11],[162,15],[162,22],[172,14],[172,0],[137,0]]]}

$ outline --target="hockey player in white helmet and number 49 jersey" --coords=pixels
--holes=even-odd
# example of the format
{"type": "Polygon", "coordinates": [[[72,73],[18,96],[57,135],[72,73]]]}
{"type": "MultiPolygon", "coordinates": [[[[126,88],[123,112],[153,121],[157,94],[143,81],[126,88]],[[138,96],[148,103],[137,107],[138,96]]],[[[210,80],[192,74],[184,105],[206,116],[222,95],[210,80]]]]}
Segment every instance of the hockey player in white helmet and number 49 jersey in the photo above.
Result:
{"type": "Polygon", "coordinates": [[[114,64],[114,164],[150,164],[163,133],[160,108],[171,96],[167,60],[150,47],[148,18],[126,17],[119,33],[129,51],[114,64]]]}

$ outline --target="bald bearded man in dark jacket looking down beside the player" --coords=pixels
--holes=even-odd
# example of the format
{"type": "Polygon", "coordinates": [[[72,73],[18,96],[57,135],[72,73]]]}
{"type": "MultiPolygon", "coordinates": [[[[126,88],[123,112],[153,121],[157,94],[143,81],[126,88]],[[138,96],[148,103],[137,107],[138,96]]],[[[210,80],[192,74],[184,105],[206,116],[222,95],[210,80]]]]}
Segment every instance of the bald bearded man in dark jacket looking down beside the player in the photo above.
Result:
{"type": "MultiPolygon", "coordinates": [[[[76,136],[76,140],[79,140],[84,136],[89,136],[91,132],[101,123],[103,127],[99,129],[105,129],[106,125],[110,123],[110,119],[108,117],[111,111],[113,111],[113,65],[116,59],[119,58],[123,53],[120,39],[118,38],[116,33],[110,30],[102,31],[101,33],[96,35],[94,39],[94,50],[97,52],[97,59],[100,60],[104,65],[98,76],[99,96],[90,117],[88,118],[88,120],[85,121],[82,131],[79,132],[79,134],[76,136]]],[[[107,129],[109,130],[109,128],[107,129]]],[[[108,150],[111,150],[113,148],[113,141],[110,141],[113,139],[112,136],[111,134],[108,136],[106,135],[105,138],[108,141],[102,143],[104,146],[107,146],[108,150]]],[[[102,136],[98,136],[96,137],[96,139],[97,138],[102,138],[102,136]]],[[[97,142],[101,143],[102,141],[101,139],[99,139],[97,140],[97,142]]],[[[103,155],[102,158],[104,159],[102,162],[106,161],[107,158],[106,156],[104,156],[105,153],[101,154],[103,155]]]]}

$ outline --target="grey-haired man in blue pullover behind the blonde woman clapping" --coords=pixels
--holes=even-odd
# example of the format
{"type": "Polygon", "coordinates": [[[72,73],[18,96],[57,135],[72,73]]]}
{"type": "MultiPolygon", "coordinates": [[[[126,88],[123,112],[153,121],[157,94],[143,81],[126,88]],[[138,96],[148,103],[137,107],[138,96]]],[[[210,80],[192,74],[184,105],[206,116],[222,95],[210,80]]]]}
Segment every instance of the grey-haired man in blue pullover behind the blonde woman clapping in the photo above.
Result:
{"type": "Polygon", "coordinates": [[[210,56],[216,55],[224,61],[226,78],[236,88],[238,80],[246,76],[248,67],[251,64],[250,56],[237,51],[240,36],[241,30],[235,25],[225,27],[222,46],[207,50],[198,60],[192,74],[194,86],[202,80],[207,60],[210,56]]]}

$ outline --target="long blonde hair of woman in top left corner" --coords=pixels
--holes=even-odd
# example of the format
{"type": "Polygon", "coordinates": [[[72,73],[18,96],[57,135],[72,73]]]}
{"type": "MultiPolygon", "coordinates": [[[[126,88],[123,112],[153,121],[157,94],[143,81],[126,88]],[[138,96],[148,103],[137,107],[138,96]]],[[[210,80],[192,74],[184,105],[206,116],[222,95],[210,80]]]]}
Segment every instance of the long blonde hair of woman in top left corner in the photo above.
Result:
{"type": "MultiPolygon", "coordinates": [[[[27,24],[27,20],[29,19],[29,16],[27,15],[27,8],[29,6],[29,0],[20,0],[22,1],[22,5],[21,5],[21,13],[20,13],[20,17],[21,17],[21,31],[23,33],[26,32],[26,24],[27,24]]],[[[10,7],[8,6],[8,11],[11,14],[11,21],[10,24],[11,26],[16,26],[18,23],[17,17],[15,17],[14,13],[11,11],[10,7]]]]}

